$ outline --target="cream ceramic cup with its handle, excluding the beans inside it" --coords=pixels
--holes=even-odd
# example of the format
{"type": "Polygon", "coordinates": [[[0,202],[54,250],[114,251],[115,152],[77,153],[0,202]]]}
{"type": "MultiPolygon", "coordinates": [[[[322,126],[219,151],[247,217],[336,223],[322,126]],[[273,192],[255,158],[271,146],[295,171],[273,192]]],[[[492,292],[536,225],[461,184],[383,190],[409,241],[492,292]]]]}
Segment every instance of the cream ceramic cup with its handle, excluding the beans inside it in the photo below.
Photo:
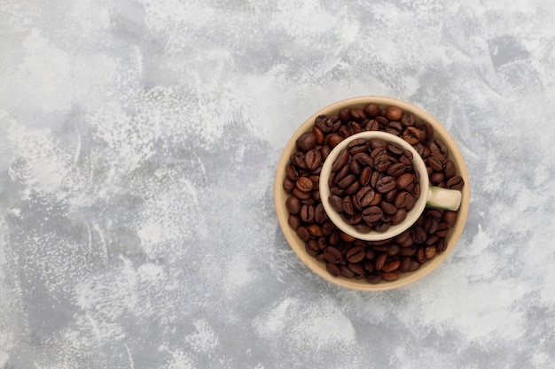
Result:
{"type": "Polygon", "coordinates": [[[330,152],[327,158],[325,158],[324,165],[322,166],[322,171],[320,172],[320,199],[324,210],[327,213],[330,220],[336,227],[340,228],[341,231],[356,237],[360,240],[365,241],[382,241],[389,238],[395,237],[395,235],[402,234],[406,229],[412,226],[420,217],[422,212],[427,207],[452,210],[456,211],[461,204],[461,192],[455,189],[439,188],[430,186],[430,181],[428,179],[428,174],[426,171],[426,164],[424,160],[418,155],[418,152],[410,145],[409,142],[404,141],[402,138],[396,135],[391,135],[386,132],[381,131],[365,131],[356,135],[349,136],[345,140],[341,141],[333,150],[330,152]],[[335,159],[339,156],[341,150],[348,146],[348,143],[356,140],[358,138],[363,138],[370,141],[374,138],[379,138],[385,140],[386,142],[395,142],[403,147],[404,150],[410,150],[412,153],[412,166],[415,171],[418,172],[420,185],[420,196],[414,207],[407,212],[407,217],[395,226],[391,226],[385,232],[377,232],[372,230],[368,233],[363,233],[348,224],[341,217],[339,212],[332,208],[329,202],[330,197],[330,186],[329,179],[332,174],[332,165],[335,159]]]}

